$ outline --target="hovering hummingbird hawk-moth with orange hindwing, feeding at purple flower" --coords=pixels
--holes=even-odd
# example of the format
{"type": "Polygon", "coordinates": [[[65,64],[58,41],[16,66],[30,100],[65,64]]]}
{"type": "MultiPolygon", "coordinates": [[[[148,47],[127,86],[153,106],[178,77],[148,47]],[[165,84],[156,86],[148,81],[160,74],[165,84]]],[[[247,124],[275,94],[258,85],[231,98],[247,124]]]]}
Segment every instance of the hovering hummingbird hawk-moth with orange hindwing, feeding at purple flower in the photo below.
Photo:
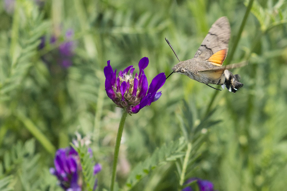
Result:
{"type": "MultiPolygon", "coordinates": [[[[228,52],[229,38],[229,21],[226,17],[220,17],[213,23],[192,59],[180,61],[177,57],[179,63],[172,68],[173,72],[180,72],[206,85],[220,84],[223,89],[225,85],[230,92],[235,93],[243,84],[240,83],[240,75],[233,75],[228,69],[245,66],[248,62],[222,66],[228,52]]],[[[172,48],[167,39],[166,42],[172,48]]]]}

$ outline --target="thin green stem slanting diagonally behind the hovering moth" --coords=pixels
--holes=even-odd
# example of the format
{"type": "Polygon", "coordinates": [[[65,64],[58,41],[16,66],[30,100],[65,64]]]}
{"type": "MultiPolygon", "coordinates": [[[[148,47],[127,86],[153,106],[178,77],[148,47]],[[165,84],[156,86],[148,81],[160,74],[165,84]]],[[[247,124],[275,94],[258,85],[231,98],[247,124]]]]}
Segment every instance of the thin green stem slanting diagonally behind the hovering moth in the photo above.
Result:
{"type": "MultiPolygon", "coordinates": [[[[248,15],[249,15],[250,11],[251,11],[252,4],[253,4],[253,0],[250,0],[249,3],[248,3],[248,5],[247,5],[247,9],[246,9],[246,11],[245,11],[243,20],[242,20],[242,22],[241,22],[239,31],[238,31],[238,33],[237,33],[235,42],[234,42],[233,47],[232,47],[232,50],[230,51],[230,54],[228,55],[228,58],[227,58],[226,61],[225,61],[226,65],[227,65],[227,64],[230,64],[230,62],[231,62],[231,60],[232,60],[232,58],[233,58],[234,52],[235,52],[235,50],[236,50],[236,48],[237,48],[237,45],[238,45],[238,42],[239,42],[239,40],[240,40],[240,38],[241,38],[241,34],[242,34],[242,31],[243,31],[243,28],[244,28],[244,26],[245,26],[245,24],[246,24],[247,17],[248,17],[248,15]]],[[[213,96],[212,96],[212,99],[210,100],[210,103],[208,104],[208,107],[207,107],[207,109],[206,109],[205,116],[208,115],[208,113],[210,112],[210,109],[211,109],[211,107],[212,107],[212,104],[213,104],[213,102],[214,102],[214,100],[215,100],[215,98],[216,98],[218,92],[219,92],[218,90],[216,90],[216,91],[214,92],[214,94],[213,94],[213,96]]]]}

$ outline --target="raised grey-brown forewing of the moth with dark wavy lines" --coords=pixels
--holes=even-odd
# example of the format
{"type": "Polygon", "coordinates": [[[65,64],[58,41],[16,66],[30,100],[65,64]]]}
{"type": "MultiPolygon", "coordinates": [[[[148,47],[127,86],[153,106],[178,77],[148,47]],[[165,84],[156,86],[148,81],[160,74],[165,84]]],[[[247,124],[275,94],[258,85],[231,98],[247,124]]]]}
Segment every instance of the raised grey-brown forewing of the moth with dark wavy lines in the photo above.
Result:
{"type": "MultiPolygon", "coordinates": [[[[203,42],[196,51],[194,58],[208,60],[219,50],[227,49],[230,38],[230,24],[227,17],[217,19],[208,31],[203,42]]],[[[227,54],[226,50],[226,54],[227,54]]],[[[224,58],[225,59],[225,58],[224,58]]],[[[223,62],[223,61],[222,61],[223,62]]]]}

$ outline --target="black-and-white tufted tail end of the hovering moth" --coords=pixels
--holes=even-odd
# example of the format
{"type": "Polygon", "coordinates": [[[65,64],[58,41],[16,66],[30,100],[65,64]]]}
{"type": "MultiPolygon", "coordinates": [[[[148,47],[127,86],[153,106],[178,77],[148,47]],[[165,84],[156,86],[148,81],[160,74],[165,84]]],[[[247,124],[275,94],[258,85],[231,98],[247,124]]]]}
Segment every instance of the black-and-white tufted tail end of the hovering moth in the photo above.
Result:
{"type": "Polygon", "coordinates": [[[235,74],[233,76],[233,74],[229,70],[225,70],[224,74],[225,74],[224,84],[230,92],[235,93],[237,90],[239,90],[239,88],[243,86],[243,84],[240,83],[239,74],[235,74]]]}

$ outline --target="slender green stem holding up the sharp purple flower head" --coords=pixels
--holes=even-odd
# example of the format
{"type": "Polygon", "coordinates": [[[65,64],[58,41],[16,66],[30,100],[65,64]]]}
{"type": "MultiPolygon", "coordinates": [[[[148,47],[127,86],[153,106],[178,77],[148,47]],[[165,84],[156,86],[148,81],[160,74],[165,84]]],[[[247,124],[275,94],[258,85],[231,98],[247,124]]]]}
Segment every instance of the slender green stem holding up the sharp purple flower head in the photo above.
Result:
{"type": "Polygon", "coordinates": [[[123,129],[125,125],[125,119],[127,118],[127,112],[123,110],[123,115],[119,124],[118,134],[117,134],[117,140],[115,145],[115,152],[114,152],[114,162],[113,162],[113,174],[112,174],[112,180],[110,183],[110,191],[114,190],[114,184],[116,179],[116,172],[117,172],[117,163],[118,163],[118,157],[119,157],[119,150],[120,150],[120,144],[121,144],[121,138],[123,135],[123,129]]]}

